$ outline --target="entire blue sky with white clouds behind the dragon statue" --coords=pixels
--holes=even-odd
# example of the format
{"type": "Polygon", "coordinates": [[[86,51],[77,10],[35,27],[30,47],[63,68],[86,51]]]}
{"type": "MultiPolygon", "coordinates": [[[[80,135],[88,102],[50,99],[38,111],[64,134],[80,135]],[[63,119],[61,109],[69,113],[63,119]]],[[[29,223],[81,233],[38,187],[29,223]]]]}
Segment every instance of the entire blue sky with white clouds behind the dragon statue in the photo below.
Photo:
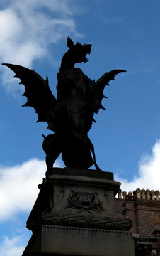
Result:
{"type": "MultiPolygon", "coordinates": [[[[103,171],[122,190],[159,189],[160,2],[149,0],[1,0],[0,60],[33,68],[56,96],[57,72],[67,36],[93,45],[88,63],[77,65],[97,80],[125,69],[105,88],[89,137],[103,171]]],[[[0,67],[0,255],[19,256],[38,183],[45,176],[42,134],[35,110],[21,107],[23,85],[0,67]]],[[[61,159],[57,166],[64,166],[61,159]]]]}

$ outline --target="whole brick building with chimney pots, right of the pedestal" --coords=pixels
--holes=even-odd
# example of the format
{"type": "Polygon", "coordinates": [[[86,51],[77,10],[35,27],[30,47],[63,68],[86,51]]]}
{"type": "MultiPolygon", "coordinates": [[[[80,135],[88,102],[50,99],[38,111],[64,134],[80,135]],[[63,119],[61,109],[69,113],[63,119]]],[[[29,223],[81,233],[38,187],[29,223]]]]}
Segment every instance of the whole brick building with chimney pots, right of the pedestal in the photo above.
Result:
{"type": "Polygon", "coordinates": [[[159,191],[119,191],[115,198],[118,218],[130,218],[135,240],[135,256],[160,256],[160,198],[159,191]]]}

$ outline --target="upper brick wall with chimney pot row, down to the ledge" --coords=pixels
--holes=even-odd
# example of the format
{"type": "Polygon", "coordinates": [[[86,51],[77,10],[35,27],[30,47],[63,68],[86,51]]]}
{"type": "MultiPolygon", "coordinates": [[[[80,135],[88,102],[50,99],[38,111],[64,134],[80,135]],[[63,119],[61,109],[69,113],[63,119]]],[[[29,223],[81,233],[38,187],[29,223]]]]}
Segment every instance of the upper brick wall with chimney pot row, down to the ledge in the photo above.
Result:
{"type": "MultiPolygon", "coordinates": [[[[140,189],[118,191],[115,198],[115,213],[118,218],[130,218],[133,234],[152,235],[152,227],[160,223],[159,191],[140,189]]],[[[155,228],[155,227],[154,227],[155,228]]]]}

